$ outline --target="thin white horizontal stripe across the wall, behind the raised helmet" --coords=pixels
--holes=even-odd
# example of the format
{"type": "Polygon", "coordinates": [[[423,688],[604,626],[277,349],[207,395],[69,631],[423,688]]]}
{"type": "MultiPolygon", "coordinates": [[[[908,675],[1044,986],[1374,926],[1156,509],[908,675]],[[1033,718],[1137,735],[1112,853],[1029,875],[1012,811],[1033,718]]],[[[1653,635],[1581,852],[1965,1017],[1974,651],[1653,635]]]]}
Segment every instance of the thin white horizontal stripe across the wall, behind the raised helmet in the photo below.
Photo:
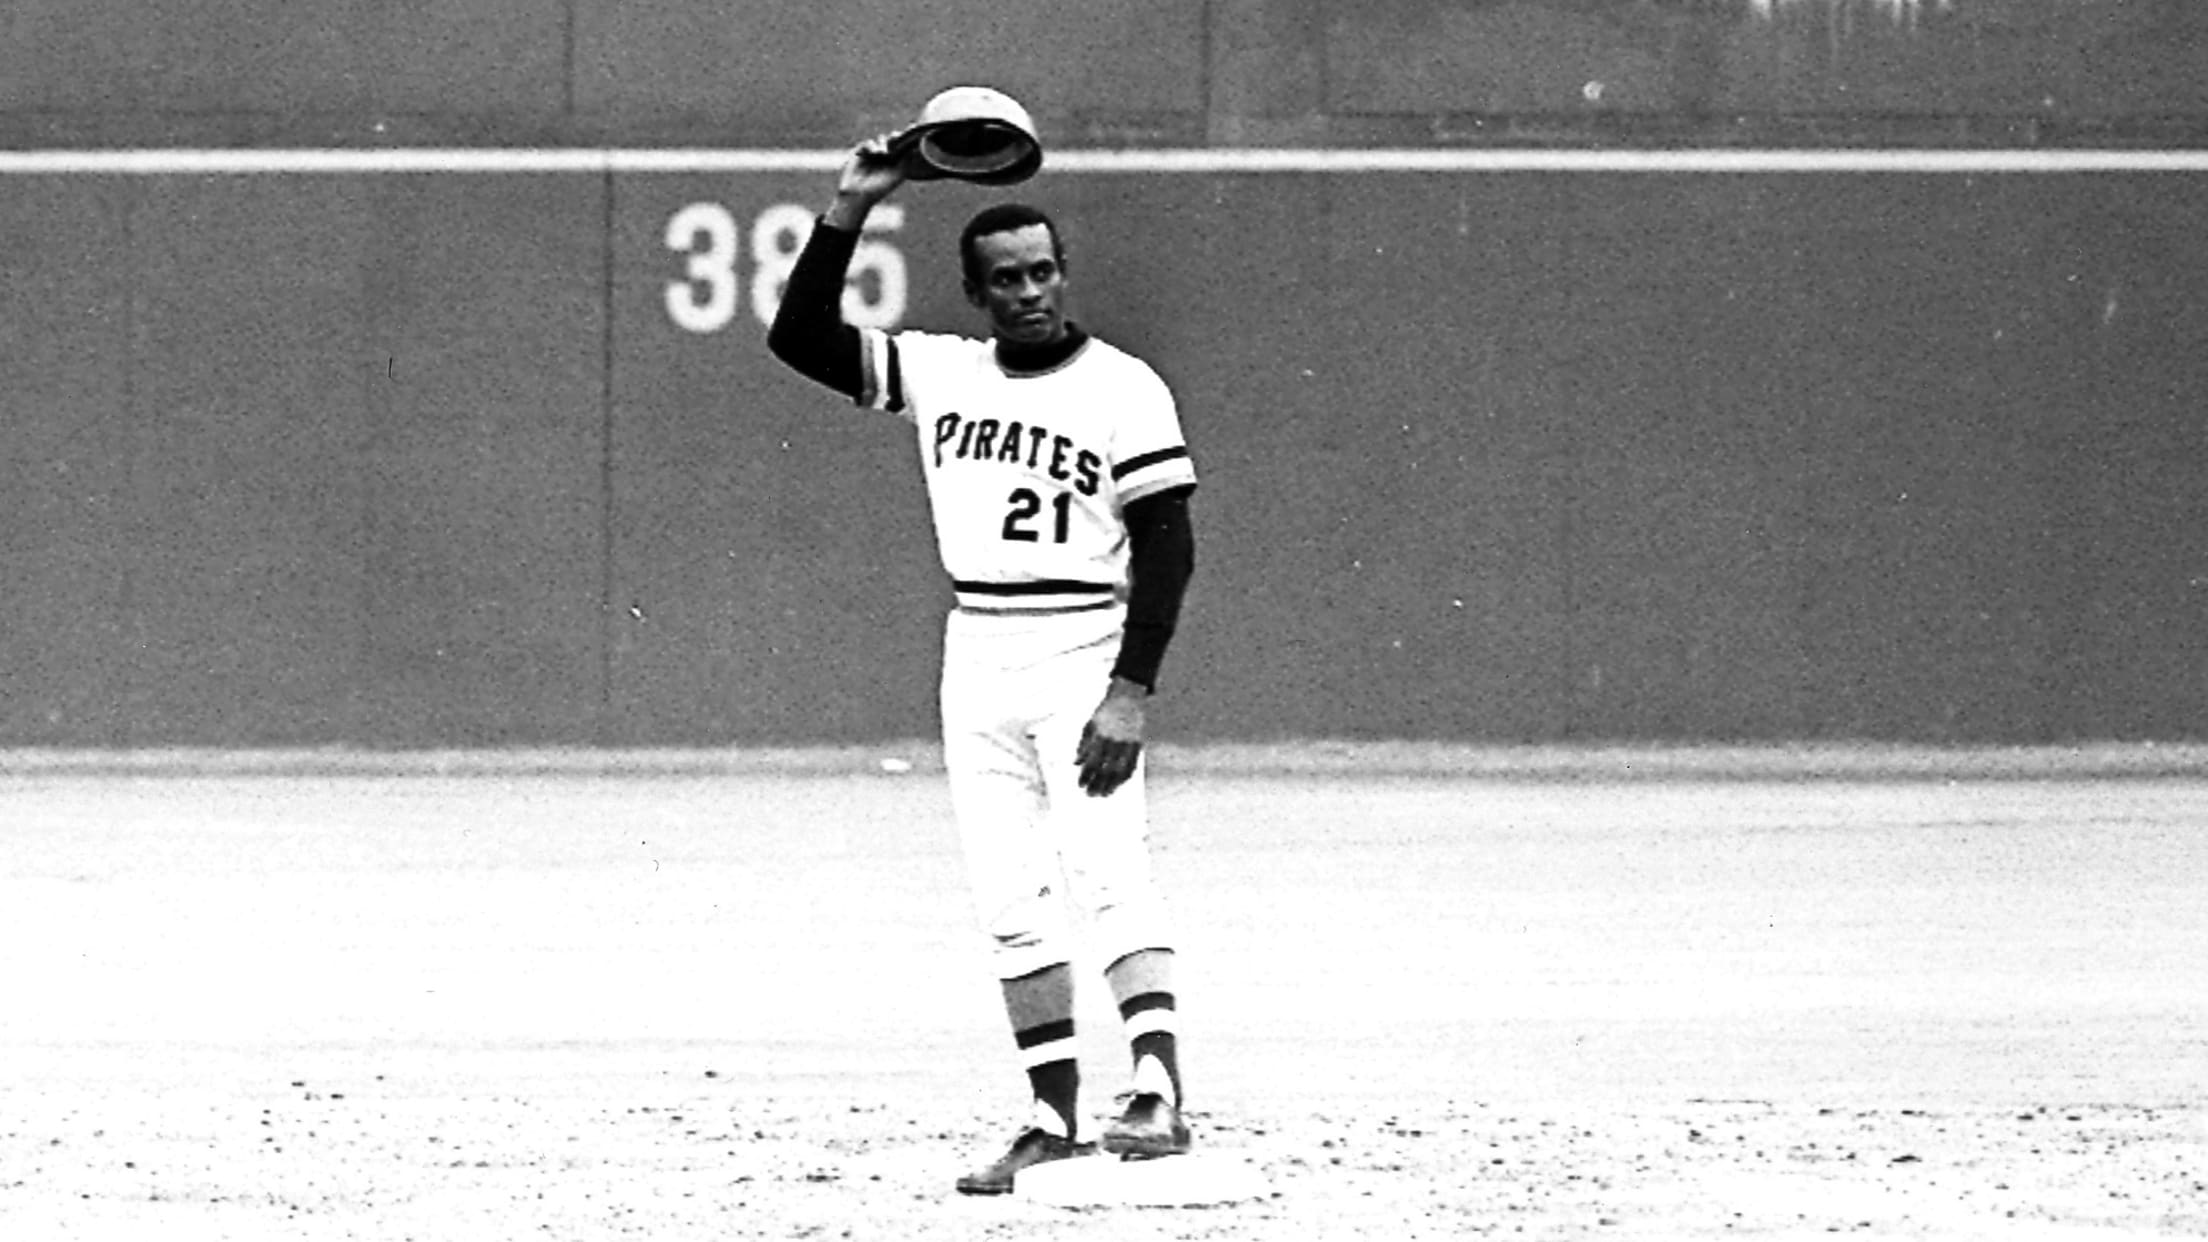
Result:
{"type": "MultiPolygon", "coordinates": [[[[0,175],[835,172],[841,150],[0,150],[0,175]]],[[[2208,150],[1053,150],[1049,172],[2208,172],[2208,150]]]]}

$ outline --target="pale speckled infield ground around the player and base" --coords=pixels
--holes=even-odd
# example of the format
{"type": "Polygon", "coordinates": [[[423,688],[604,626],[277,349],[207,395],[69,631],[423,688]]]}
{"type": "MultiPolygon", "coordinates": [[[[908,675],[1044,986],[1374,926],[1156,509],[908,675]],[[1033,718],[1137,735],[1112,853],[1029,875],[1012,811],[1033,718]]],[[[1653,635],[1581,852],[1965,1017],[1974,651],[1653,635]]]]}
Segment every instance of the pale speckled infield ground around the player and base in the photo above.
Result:
{"type": "Polygon", "coordinates": [[[1153,798],[1245,1204],[949,1193],[1025,1101],[927,762],[13,771],[0,1235],[2208,1233],[2197,776],[1153,798]]]}

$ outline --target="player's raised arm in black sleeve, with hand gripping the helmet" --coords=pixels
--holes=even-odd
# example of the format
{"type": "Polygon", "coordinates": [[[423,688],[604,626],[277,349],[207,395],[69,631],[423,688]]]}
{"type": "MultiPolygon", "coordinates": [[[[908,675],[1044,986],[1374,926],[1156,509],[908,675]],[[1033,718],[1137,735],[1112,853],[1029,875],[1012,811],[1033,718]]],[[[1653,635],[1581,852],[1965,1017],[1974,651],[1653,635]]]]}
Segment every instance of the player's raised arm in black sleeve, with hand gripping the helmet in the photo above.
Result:
{"type": "Polygon", "coordinates": [[[866,360],[859,329],[843,323],[843,281],[868,212],[903,183],[905,168],[890,155],[885,139],[877,137],[850,152],[835,201],[797,254],[775,323],[766,329],[766,347],[775,358],[852,400],[866,391],[866,360]]]}

